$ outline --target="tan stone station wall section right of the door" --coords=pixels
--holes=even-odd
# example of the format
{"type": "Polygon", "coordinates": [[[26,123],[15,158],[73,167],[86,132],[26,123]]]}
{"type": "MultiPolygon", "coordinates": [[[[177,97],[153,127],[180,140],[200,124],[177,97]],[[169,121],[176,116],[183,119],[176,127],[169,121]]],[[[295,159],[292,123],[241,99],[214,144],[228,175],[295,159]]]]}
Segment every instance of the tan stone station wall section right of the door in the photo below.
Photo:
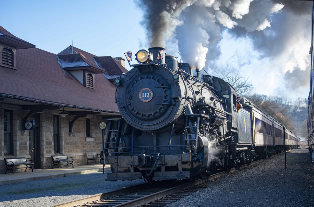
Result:
{"type": "MultiPolygon", "coordinates": [[[[51,168],[53,165],[51,160],[51,155],[54,155],[53,114],[58,113],[54,110],[45,110],[41,114],[41,122],[44,122],[41,123],[41,133],[43,133],[41,135],[43,149],[41,165],[43,169],[51,168]]],[[[75,159],[74,165],[87,165],[85,151],[96,151],[98,154],[102,151],[102,130],[99,128],[99,124],[104,120],[102,116],[97,115],[89,115],[87,118],[81,117],[74,122],[73,133],[69,133],[69,123],[74,117],[75,115],[59,117],[60,152],[56,154],[66,154],[68,157],[73,157],[75,159]],[[88,118],[90,120],[90,137],[86,137],[85,120],[88,118]]]]}

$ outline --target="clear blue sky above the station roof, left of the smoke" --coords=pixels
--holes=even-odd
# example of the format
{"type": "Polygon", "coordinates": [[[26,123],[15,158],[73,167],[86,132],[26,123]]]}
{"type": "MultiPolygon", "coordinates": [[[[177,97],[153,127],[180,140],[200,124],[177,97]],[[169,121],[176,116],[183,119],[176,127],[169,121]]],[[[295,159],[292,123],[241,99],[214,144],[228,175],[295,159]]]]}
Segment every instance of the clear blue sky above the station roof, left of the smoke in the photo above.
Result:
{"type": "Polygon", "coordinates": [[[123,57],[145,41],[142,14],[131,0],[0,1],[0,8],[8,8],[1,9],[3,28],[56,54],[73,40],[73,46],[96,56],[123,57]]]}

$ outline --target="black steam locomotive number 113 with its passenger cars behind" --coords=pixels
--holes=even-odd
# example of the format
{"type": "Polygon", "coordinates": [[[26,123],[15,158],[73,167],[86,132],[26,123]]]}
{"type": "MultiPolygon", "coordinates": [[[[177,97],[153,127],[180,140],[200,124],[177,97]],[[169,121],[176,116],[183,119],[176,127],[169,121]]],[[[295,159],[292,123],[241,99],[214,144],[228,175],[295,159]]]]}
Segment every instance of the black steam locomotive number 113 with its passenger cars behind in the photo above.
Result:
{"type": "Polygon", "coordinates": [[[154,47],[136,53],[139,64],[116,78],[123,119],[111,119],[102,163],[106,180],[189,179],[271,156],[300,140],[242,99],[224,80],[192,70],[154,47]],[[285,138],[285,139],[284,139],[285,138]]]}

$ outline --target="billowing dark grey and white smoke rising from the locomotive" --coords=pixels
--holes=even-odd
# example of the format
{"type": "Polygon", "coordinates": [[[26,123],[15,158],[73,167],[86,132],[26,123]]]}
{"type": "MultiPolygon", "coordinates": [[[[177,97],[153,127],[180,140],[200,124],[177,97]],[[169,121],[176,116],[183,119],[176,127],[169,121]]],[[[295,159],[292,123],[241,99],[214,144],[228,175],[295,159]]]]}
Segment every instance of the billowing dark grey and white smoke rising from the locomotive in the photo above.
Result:
{"type": "MultiPolygon", "coordinates": [[[[177,43],[182,61],[214,69],[221,55],[219,42],[227,30],[234,38],[250,38],[260,59],[291,81],[307,76],[310,64],[311,2],[279,0],[136,0],[149,45],[177,43]],[[166,41],[167,40],[167,41],[166,41]],[[305,48],[308,48],[305,50],[305,48]]],[[[305,78],[306,77],[306,78],[305,78]]],[[[306,79],[306,84],[308,80],[306,79]]],[[[287,84],[286,84],[287,85],[287,84]]],[[[304,82],[295,84],[296,89],[304,82]]],[[[291,88],[291,87],[290,87],[291,88]]]]}

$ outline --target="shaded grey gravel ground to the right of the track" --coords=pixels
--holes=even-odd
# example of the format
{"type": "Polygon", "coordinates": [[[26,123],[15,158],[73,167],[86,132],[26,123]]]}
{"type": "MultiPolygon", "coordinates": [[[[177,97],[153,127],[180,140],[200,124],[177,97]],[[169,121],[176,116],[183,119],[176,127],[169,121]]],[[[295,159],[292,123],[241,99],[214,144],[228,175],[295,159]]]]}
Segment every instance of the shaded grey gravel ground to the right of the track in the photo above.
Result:
{"type": "Polygon", "coordinates": [[[217,178],[219,183],[166,207],[314,206],[314,170],[308,149],[296,149],[217,178]]]}

